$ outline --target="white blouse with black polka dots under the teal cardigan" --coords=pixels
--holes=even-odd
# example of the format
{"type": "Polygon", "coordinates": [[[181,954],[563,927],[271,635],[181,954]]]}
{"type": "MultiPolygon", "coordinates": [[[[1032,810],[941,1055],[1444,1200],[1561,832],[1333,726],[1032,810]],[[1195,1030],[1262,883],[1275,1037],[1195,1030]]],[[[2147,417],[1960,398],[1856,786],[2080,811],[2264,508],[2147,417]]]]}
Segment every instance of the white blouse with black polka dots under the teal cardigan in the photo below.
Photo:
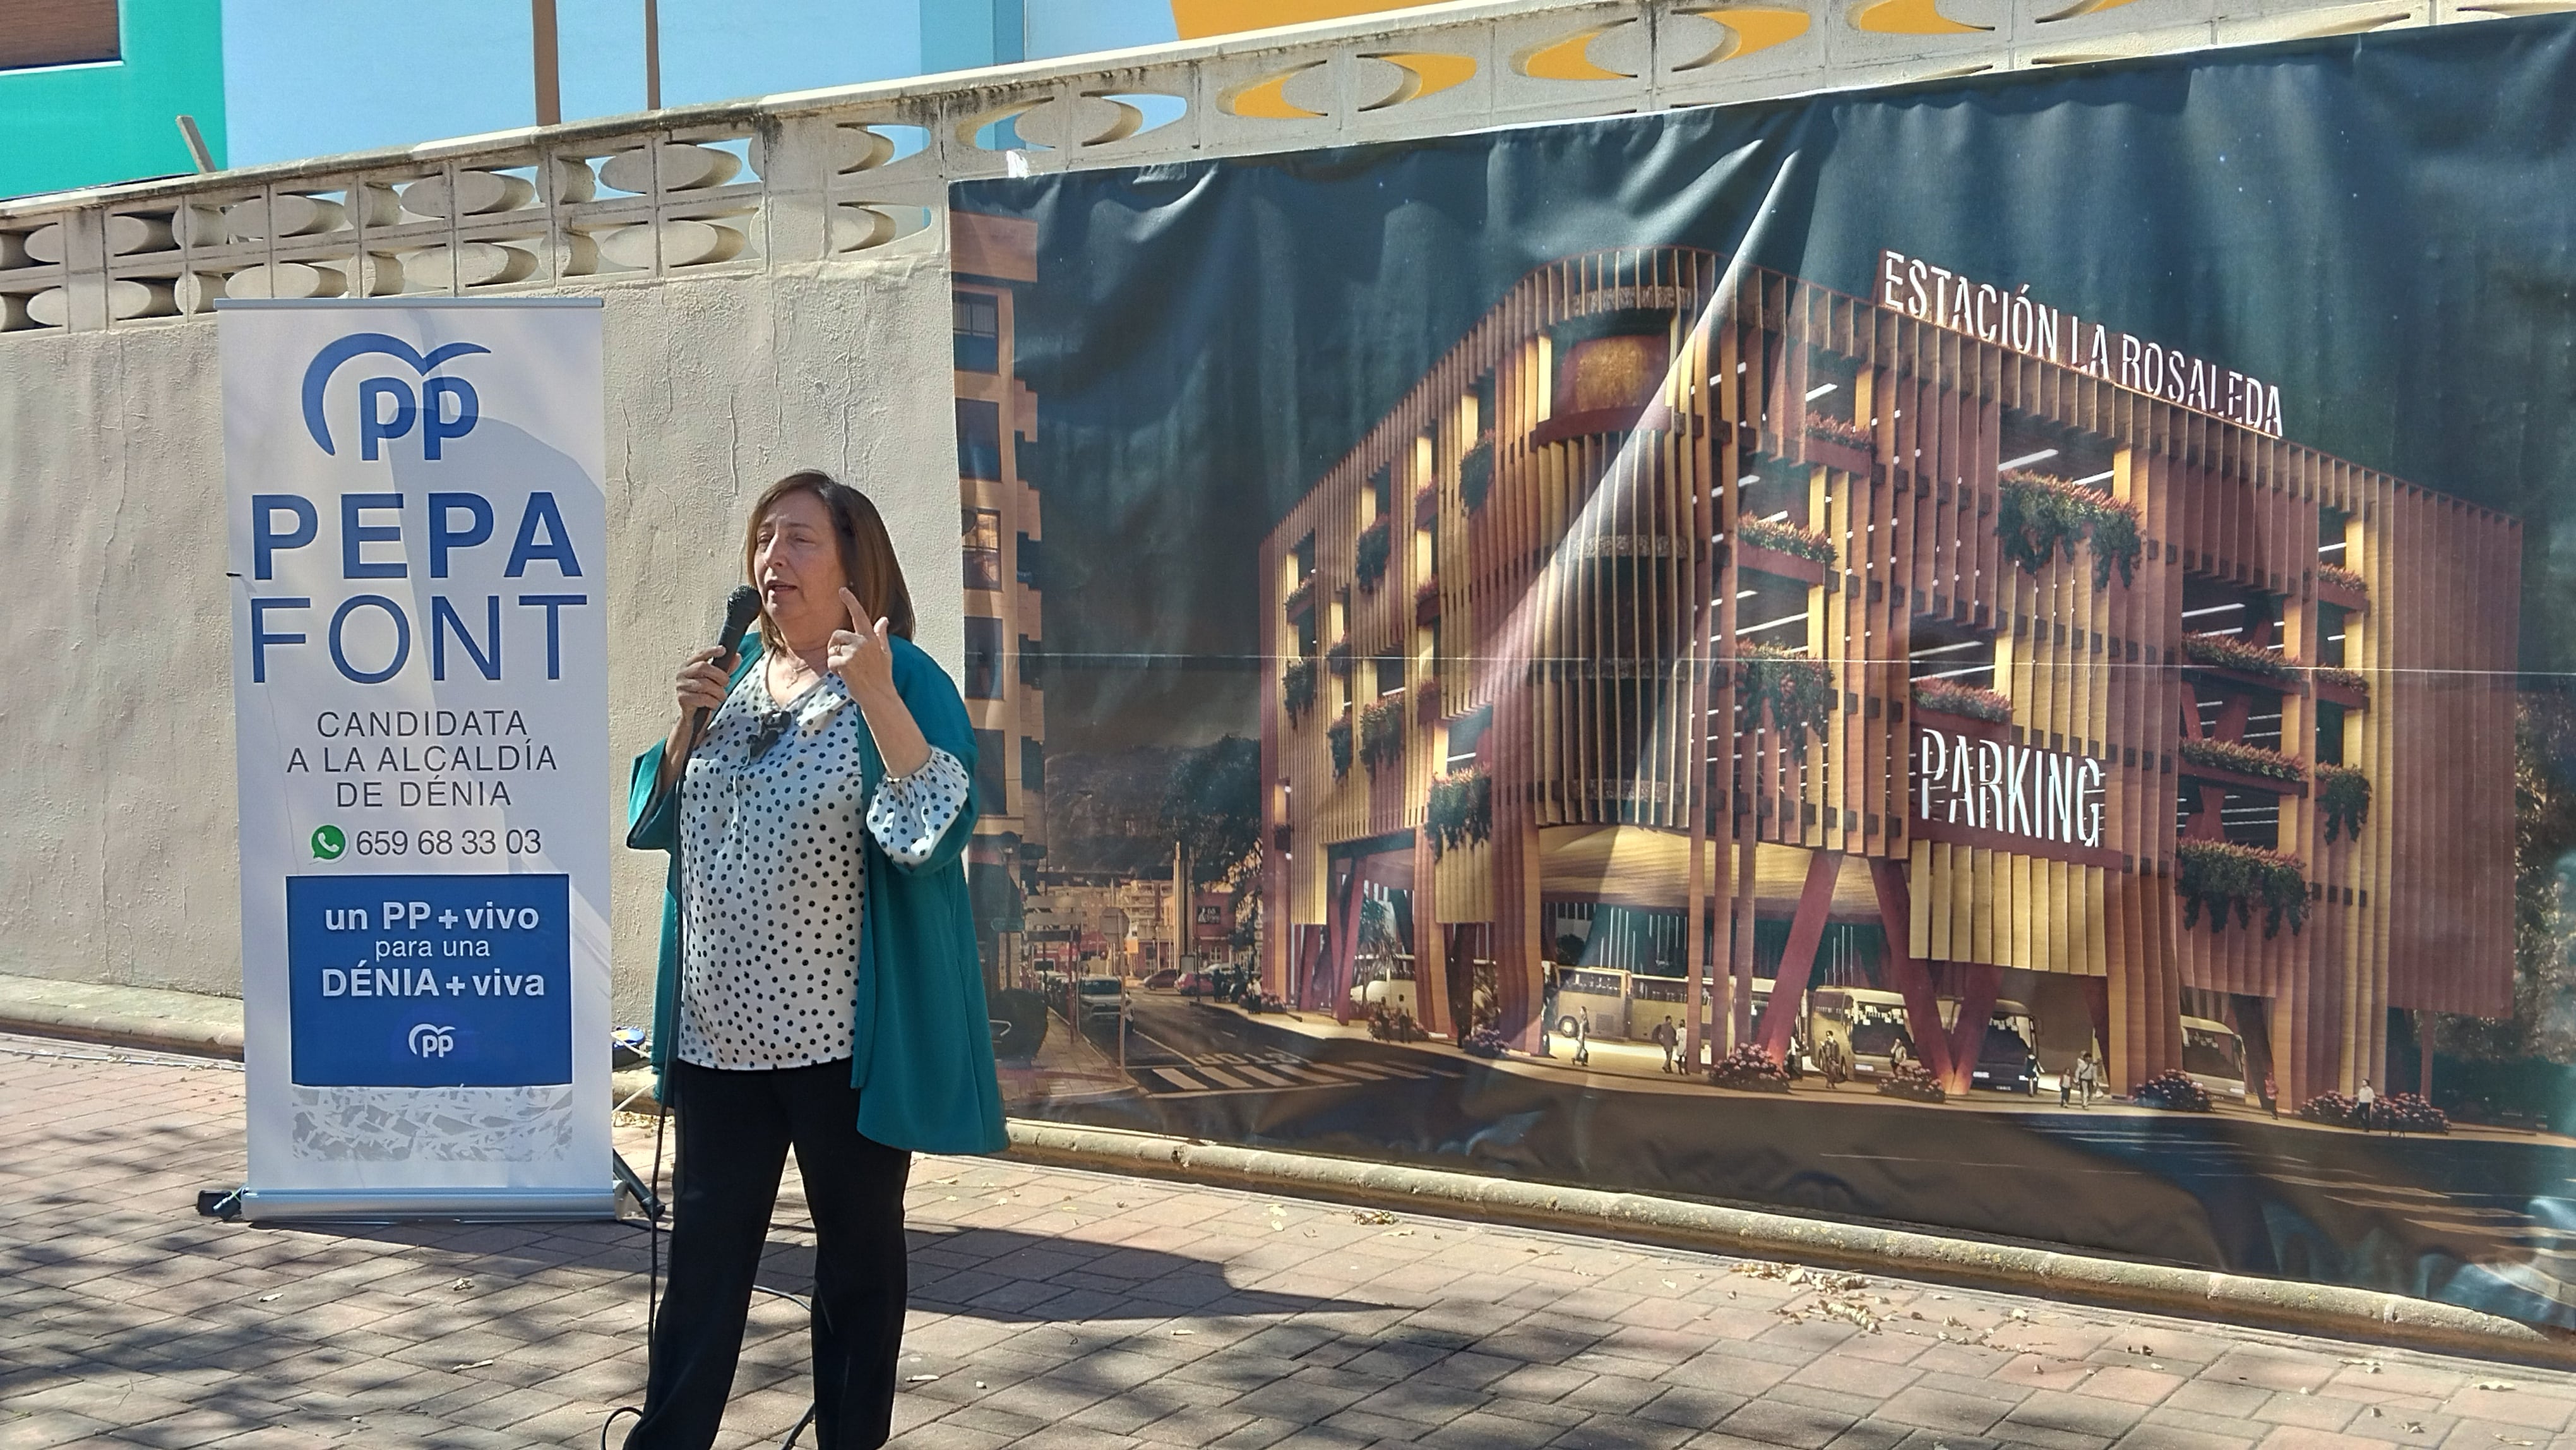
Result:
{"type": "MultiPolygon", "coordinates": [[[[744,670],[688,757],[680,868],[688,935],[680,963],[680,1061],[788,1069],[850,1056],[858,1004],[860,716],[824,675],[796,701],[744,670]]],[[[886,775],[866,827],[904,865],[930,858],[966,809],[966,767],[945,749],[886,775]]]]}

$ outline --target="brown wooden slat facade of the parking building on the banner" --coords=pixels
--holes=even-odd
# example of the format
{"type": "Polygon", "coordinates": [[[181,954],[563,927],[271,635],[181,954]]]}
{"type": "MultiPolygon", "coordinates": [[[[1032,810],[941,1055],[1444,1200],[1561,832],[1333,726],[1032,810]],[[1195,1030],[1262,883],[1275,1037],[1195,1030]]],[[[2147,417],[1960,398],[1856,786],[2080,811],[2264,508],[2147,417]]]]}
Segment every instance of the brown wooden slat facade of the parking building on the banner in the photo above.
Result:
{"type": "MultiPolygon", "coordinates": [[[[1417,891],[1425,1025],[1466,1030],[1453,984],[1471,976],[1448,953],[1468,953],[1489,963],[1484,1012],[1528,1043],[1540,901],[1579,894],[1553,863],[1582,855],[1628,863],[1592,899],[1703,922],[1682,932],[1680,999],[1695,1004],[1692,1051],[1723,1051],[1747,1040],[1754,917],[1798,909],[1795,860],[1832,852],[1847,873],[1811,873],[1839,881],[1829,909],[1896,912],[1891,958],[2097,981],[2123,1084],[2179,1064],[2182,989],[2267,1002],[2293,1100],[2380,1074],[2391,1007],[2509,1007],[2519,525],[2491,510],[1865,299],[1656,247],[1517,283],[1316,482],[1260,567],[1273,992],[1350,961],[1329,932],[1334,891],[1378,873],[1417,891]],[[1571,340],[1602,325],[1625,330],[1625,350],[1595,353],[1595,371],[1620,381],[1651,363],[1618,404],[1566,373],[1571,340]],[[1811,394],[1847,402],[1868,448],[1814,430],[1811,394]],[[2002,549],[2007,440],[2032,435],[2105,461],[2089,487],[2130,505],[2143,536],[2128,579],[2097,587],[2081,549],[2040,572],[2002,549]],[[1803,500],[1806,531],[1834,551],[1832,567],[1785,567],[1814,574],[1790,579],[1806,585],[1803,636],[1744,616],[1741,600],[1785,585],[1762,572],[1777,556],[1739,533],[1757,494],[1803,500]],[[2367,683],[2367,703],[2344,690],[2342,757],[2372,804],[2326,842],[2306,786],[2277,791],[2275,850],[2303,863],[2313,896],[2303,930],[2184,927],[2177,791],[2195,793],[2195,767],[2177,749],[2208,680],[2182,654],[2184,590],[2277,610],[2275,649],[2295,667],[2277,742],[2316,765],[2321,510],[2349,520],[2344,564],[2367,579],[2367,600],[2342,605],[2339,649],[2367,683]],[[1363,579],[1360,538],[1381,515],[1386,569],[1363,579]],[[1991,641],[2012,701],[1999,734],[2102,765],[2099,850],[1924,840],[1909,662],[1927,631],[1991,641]],[[1839,685],[1803,752],[1767,716],[1739,731],[1736,662],[1754,634],[1803,646],[1839,685]],[[1301,654],[1319,690],[1291,719],[1280,680],[1301,654]],[[1381,721],[1401,711],[1391,760],[1363,760],[1373,703],[1381,721]],[[1453,755],[1492,780],[1492,837],[1435,852],[1425,801],[1453,755]],[[1875,907],[1870,860],[1904,883],[1875,907]]],[[[2226,798],[2244,811],[2264,796],[2239,783],[2226,798]]]]}

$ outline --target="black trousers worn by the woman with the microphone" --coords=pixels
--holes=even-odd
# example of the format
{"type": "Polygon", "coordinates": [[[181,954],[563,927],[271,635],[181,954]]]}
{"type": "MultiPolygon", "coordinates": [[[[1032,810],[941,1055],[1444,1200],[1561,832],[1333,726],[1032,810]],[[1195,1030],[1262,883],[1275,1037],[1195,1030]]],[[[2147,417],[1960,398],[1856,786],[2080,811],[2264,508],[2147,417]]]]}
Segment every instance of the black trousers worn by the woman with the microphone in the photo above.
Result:
{"type": "Polygon", "coordinates": [[[904,1342],[904,1177],[912,1154],[858,1133],[850,1064],[716,1071],[670,1064],[670,1290],[629,1450],[706,1450],[742,1357],[788,1144],[814,1210],[814,1440],[871,1450],[894,1419],[904,1342]]]}

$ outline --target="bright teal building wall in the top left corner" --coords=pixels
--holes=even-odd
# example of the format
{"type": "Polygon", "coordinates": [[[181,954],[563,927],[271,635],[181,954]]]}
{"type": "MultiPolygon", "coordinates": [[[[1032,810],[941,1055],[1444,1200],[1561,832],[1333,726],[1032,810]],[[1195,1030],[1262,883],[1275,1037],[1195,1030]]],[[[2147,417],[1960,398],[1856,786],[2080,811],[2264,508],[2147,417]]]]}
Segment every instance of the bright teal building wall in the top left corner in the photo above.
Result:
{"type": "Polygon", "coordinates": [[[0,196],[196,170],[175,116],[224,162],[222,0],[121,0],[124,59],[0,70],[0,196]]]}

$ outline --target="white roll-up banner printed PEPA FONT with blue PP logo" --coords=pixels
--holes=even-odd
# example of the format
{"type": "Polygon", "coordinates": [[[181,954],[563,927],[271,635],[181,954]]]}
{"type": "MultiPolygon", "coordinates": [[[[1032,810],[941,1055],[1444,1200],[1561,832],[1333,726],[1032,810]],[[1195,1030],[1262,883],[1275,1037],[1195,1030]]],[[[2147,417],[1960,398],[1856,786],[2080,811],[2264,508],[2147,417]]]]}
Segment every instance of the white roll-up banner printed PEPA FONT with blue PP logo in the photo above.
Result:
{"type": "Polygon", "coordinates": [[[222,301],[250,1218],[611,1218],[600,304],[222,301]]]}

